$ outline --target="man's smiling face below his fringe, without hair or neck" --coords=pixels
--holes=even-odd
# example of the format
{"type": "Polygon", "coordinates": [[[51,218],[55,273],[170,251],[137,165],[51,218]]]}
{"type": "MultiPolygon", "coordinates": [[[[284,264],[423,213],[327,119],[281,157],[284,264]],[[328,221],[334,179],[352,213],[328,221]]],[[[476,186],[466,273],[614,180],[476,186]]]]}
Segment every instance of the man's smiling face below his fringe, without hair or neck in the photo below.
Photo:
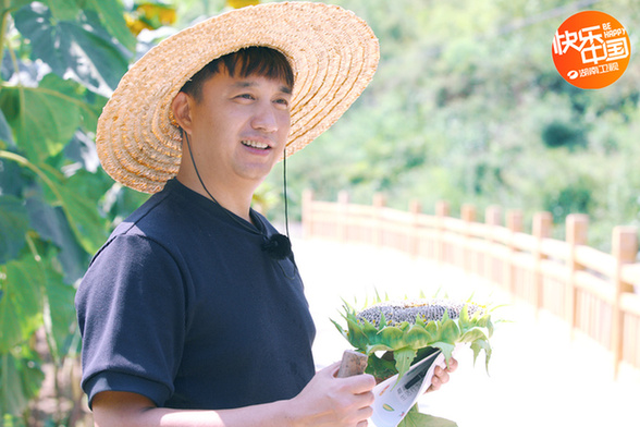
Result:
{"type": "Polygon", "coordinates": [[[231,77],[225,70],[192,98],[192,149],[200,173],[218,184],[259,184],[284,150],[291,88],[279,80],[231,77]],[[239,181],[238,181],[239,180],[239,181]]]}

